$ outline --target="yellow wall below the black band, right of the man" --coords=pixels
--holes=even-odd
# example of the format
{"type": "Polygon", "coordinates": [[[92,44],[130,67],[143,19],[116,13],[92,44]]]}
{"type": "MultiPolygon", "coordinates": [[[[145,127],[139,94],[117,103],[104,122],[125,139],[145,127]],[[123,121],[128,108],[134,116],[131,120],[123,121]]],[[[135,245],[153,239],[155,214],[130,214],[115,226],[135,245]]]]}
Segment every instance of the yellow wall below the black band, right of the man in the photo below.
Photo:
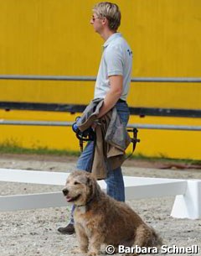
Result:
{"type": "MultiPolygon", "coordinates": [[[[201,125],[200,118],[161,118],[131,116],[129,123],[201,125]]],[[[179,159],[201,159],[200,131],[139,129],[141,143],[137,153],[147,156],[166,156],[179,159]]]]}

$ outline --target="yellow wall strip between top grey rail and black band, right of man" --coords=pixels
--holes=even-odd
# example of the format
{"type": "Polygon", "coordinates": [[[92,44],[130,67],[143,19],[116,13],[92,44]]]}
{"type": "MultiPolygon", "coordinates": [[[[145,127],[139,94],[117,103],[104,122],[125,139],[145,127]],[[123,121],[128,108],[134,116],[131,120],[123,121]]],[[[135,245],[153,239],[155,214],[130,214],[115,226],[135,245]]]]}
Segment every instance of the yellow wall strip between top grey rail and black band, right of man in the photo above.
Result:
{"type": "Polygon", "coordinates": [[[201,83],[131,83],[131,107],[164,107],[201,110],[201,83]]]}

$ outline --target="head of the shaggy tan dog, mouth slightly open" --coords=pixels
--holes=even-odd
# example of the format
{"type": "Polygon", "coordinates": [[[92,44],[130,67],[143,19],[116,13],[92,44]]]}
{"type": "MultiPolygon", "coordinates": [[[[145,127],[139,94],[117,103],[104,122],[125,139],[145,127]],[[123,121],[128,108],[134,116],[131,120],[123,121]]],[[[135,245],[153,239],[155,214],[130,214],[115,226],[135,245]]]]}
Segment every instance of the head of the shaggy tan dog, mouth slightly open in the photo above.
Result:
{"type": "Polygon", "coordinates": [[[93,175],[86,171],[76,170],[66,180],[63,194],[68,202],[76,206],[85,206],[97,197],[100,191],[101,188],[93,175]]]}

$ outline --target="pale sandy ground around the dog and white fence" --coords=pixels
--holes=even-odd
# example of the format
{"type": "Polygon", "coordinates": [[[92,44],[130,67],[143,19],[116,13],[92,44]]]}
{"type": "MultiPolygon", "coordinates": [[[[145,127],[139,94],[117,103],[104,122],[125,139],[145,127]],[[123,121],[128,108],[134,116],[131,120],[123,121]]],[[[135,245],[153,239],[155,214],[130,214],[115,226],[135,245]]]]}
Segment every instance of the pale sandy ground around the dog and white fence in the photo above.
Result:
{"type": "MultiPolygon", "coordinates": [[[[201,170],[159,170],[142,168],[135,161],[123,167],[124,175],[164,178],[201,179],[201,170]]],[[[147,167],[147,164],[146,164],[147,167]]],[[[75,158],[0,156],[0,168],[23,170],[49,170],[70,172],[75,170],[75,158]]],[[[30,185],[0,182],[0,195],[28,194],[60,191],[57,185],[30,185]]],[[[170,217],[173,197],[127,201],[143,220],[160,233],[165,245],[178,247],[198,246],[201,255],[201,219],[188,220],[170,217]]],[[[1,256],[68,256],[76,243],[75,235],[62,235],[58,227],[66,225],[70,206],[18,212],[0,212],[0,255],[1,256]]],[[[81,255],[81,254],[80,254],[81,255]]],[[[106,255],[104,248],[102,255],[106,255]]],[[[116,255],[121,255],[116,254],[116,255]]],[[[150,255],[150,254],[147,254],[150,255]]],[[[156,253],[177,255],[177,253],[156,253]]],[[[178,255],[189,255],[179,253],[178,255]]],[[[192,254],[194,255],[194,254],[192,254]]]]}

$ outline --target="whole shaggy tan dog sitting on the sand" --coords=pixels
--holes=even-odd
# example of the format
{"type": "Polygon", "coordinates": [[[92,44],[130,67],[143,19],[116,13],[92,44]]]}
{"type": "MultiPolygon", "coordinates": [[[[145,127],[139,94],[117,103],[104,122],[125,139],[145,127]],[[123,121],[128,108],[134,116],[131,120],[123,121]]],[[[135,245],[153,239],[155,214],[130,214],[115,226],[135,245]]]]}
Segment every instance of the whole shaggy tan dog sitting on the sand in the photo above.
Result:
{"type": "Polygon", "coordinates": [[[103,243],[115,248],[118,245],[157,247],[162,243],[152,227],[148,227],[131,207],[101,191],[90,173],[71,173],[63,193],[67,201],[76,206],[75,232],[80,253],[98,255],[103,243]]]}

